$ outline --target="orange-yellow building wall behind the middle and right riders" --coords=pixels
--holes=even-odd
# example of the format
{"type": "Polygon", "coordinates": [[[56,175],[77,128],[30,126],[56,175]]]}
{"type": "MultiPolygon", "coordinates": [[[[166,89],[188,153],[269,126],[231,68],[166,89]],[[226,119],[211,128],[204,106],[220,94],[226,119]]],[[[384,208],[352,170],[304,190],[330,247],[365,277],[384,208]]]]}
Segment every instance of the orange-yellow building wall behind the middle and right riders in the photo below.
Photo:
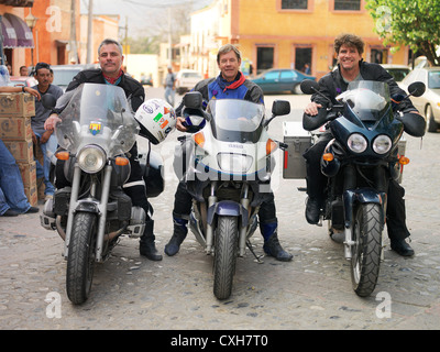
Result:
{"type": "MultiPolygon", "coordinates": [[[[374,22],[362,0],[361,11],[332,11],[333,0],[309,0],[307,11],[280,11],[280,0],[223,0],[220,36],[238,44],[243,57],[256,64],[256,47],[274,46],[274,67],[292,67],[295,46],[312,48],[312,75],[321,77],[332,64],[332,44],[342,32],[360,35],[365,41],[364,59],[370,61],[372,48],[384,48],[373,32],[374,22]]],[[[408,50],[388,56],[384,63],[407,64],[408,50]]]]}

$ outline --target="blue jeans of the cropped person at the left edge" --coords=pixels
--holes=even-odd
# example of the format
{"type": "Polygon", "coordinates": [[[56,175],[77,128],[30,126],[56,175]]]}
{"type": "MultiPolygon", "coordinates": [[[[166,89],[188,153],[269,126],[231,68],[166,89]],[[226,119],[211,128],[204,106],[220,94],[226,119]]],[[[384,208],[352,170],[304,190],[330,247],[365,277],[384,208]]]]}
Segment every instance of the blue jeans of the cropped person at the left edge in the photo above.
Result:
{"type": "Polygon", "coordinates": [[[15,158],[0,140],[0,215],[8,209],[23,213],[30,208],[15,158]]]}

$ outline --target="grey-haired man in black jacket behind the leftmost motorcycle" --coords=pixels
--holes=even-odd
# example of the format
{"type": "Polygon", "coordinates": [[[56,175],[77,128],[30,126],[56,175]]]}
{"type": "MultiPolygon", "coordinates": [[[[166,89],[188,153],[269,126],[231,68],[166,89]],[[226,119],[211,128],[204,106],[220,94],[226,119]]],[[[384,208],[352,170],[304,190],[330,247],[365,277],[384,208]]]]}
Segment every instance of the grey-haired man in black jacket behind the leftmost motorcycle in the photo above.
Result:
{"type": "MultiPolygon", "coordinates": [[[[102,41],[98,48],[98,56],[99,65],[101,66],[101,68],[86,69],[80,72],[68,85],[66,92],[74,90],[84,82],[116,85],[121,87],[125,91],[127,97],[130,97],[133,111],[136,111],[145,99],[145,90],[138,80],[131,78],[128,75],[124,75],[123,70],[121,69],[123,62],[121,44],[119,44],[117,41],[109,38],[102,41]]],[[[46,120],[44,128],[48,131],[52,131],[55,128],[57,121],[61,121],[57,114],[52,114],[46,120]]],[[[153,207],[146,199],[145,184],[142,179],[142,170],[138,161],[136,144],[134,144],[133,147],[130,150],[130,165],[131,174],[130,178],[123,186],[124,191],[130,196],[133,206],[142,207],[145,210],[147,217],[145,231],[141,237],[140,253],[141,255],[144,255],[152,261],[161,261],[162,255],[157,252],[154,243],[154,221],[151,219],[151,215],[153,215],[153,207]]],[[[57,169],[62,168],[57,166],[57,169]]],[[[57,176],[61,174],[62,173],[57,173],[57,176]]],[[[55,185],[56,188],[62,188],[66,186],[62,184],[63,178],[64,177],[57,177],[55,185]]]]}

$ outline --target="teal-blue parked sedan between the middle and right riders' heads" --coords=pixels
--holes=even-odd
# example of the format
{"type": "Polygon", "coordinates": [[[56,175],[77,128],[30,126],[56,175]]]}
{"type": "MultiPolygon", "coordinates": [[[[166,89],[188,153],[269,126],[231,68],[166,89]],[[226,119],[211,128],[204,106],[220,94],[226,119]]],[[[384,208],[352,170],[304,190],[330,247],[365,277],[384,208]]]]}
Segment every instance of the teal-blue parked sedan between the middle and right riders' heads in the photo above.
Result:
{"type": "Polygon", "coordinates": [[[302,91],[299,85],[305,79],[316,80],[316,77],[302,74],[296,69],[272,68],[263,72],[251,80],[257,84],[263,89],[264,94],[288,90],[293,94],[301,95],[302,91]]]}

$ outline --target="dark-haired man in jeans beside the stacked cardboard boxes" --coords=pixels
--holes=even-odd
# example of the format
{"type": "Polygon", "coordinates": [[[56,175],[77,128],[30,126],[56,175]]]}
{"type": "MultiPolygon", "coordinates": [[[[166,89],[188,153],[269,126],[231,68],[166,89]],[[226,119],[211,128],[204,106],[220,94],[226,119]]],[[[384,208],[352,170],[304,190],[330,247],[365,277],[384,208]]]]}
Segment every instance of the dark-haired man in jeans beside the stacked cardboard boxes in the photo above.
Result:
{"type": "MultiPolygon", "coordinates": [[[[35,66],[35,79],[38,84],[32,88],[37,90],[40,95],[51,94],[56,99],[58,99],[63,95],[63,89],[58,86],[51,85],[51,66],[46,63],[37,63],[35,66]]],[[[38,161],[36,162],[36,177],[44,177],[44,195],[46,200],[48,198],[53,198],[55,193],[55,186],[51,183],[50,173],[51,173],[51,164],[55,165],[55,152],[58,145],[55,134],[52,131],[44,130],[44,122],[46,122],[47,118],[51,114],[51,110],[47,110],[43,107],[43,103],[38,100],[35,100],[35,117],[31,119],[32,125],[32,141],[34,145],[40,147],[43,153],[43,166],[38,161]]]]}

